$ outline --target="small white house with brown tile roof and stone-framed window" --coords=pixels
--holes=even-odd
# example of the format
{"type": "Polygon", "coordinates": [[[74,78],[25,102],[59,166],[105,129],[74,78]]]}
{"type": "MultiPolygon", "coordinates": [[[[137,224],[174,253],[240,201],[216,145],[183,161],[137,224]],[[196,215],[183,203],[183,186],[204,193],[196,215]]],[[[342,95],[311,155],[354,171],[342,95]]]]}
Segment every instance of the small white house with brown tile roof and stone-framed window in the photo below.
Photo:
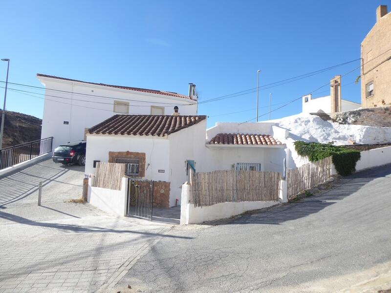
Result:
{"type": "Polygon", "coordinates": [[[181,187],[188,180],[185,162],[202,156],[206,116],[114,115],[87,134],[86,174],[97,161],[136,164],[132,177],[169,184],[167,202],[180,203],[181,187]]]}

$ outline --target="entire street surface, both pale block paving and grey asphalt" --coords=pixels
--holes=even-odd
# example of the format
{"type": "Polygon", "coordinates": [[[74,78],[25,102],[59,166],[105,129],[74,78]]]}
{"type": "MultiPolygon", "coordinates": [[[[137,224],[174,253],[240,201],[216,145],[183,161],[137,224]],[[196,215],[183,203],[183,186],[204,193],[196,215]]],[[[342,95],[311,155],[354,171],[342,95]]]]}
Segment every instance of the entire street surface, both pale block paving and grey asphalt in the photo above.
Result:
{"type": "Polygon", "coordinates": [[[361,292],[354,288],[365,280],[391,285],[391,166],[295,204],[173,229],[65,202],[80,197],[83,176],[81,167],[48,160],[0,179],[0,293],[347,293],[361,292]]]}

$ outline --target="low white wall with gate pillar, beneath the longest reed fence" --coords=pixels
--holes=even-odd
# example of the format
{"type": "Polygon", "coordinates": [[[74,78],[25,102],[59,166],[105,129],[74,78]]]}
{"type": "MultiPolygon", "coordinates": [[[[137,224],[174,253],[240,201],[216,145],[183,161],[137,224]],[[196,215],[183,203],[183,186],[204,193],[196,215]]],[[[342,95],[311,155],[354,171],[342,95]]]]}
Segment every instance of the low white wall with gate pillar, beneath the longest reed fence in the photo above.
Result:
{"type": "Polygon", "coordinates": [[[180,208],[180,225],[200,224],[206,221],[230,218],[245,211],[264,209],[279,204],[277,201],[256,201],[239,203],[219,203],[212,206],[195,207],[189,203],[190,185],[182,186],[182,204],[180,208]]]}

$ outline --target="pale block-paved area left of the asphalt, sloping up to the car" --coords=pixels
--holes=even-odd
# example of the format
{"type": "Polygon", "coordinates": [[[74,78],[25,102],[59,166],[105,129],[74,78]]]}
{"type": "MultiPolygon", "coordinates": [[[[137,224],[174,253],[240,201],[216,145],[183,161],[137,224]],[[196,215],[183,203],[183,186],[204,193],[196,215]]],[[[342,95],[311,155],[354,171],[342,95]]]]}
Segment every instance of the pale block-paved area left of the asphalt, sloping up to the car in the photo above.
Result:
{"type": "Polygon", "coordinates": [[[64,202],[80,197],[83,169],[47,160],[0,179],[0,293],[96,292],[172,237],[167,224],[64,202]]]}

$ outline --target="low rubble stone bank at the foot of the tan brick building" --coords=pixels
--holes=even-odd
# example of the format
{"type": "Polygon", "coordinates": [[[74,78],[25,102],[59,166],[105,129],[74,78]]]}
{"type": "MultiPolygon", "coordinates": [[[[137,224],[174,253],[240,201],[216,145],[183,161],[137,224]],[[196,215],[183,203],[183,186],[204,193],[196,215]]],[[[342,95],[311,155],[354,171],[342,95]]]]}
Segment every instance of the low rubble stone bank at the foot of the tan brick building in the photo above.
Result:
{"type": "Polygon", "coordinates": [[[329,116],[340,124],[391,127],[391,106],[362,108],[329,116]]]}

